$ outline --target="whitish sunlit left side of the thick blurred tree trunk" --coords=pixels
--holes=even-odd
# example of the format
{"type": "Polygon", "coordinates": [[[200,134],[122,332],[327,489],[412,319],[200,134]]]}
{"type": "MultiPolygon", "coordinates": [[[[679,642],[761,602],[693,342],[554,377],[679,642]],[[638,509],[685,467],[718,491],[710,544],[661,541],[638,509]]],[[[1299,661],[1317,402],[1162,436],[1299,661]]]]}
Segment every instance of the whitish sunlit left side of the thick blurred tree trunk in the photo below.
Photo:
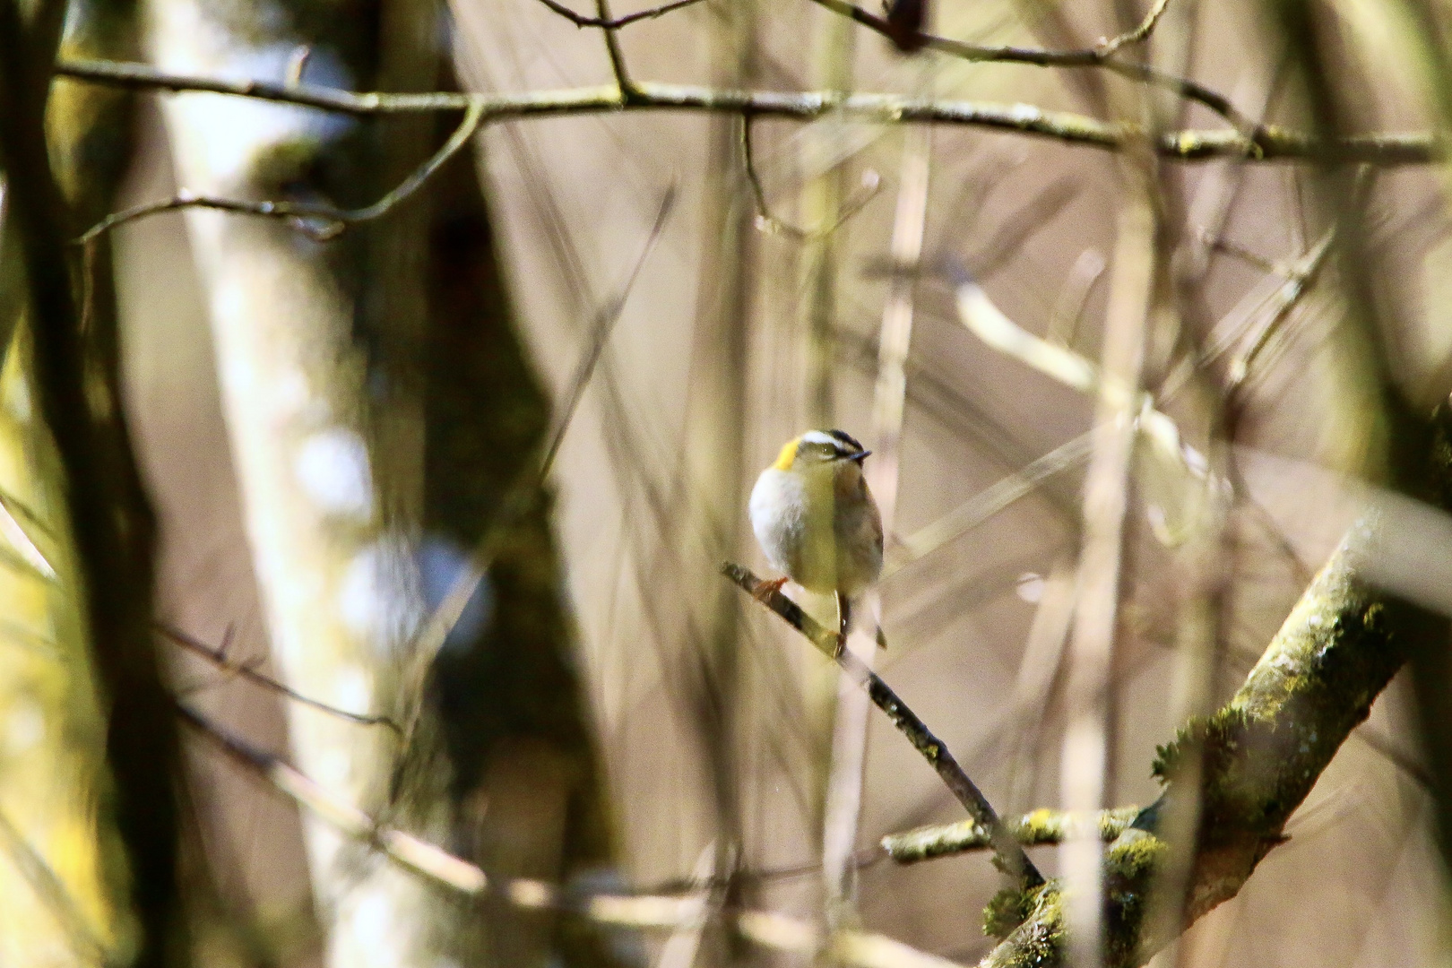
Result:
{"type": "MultiPolygon", "coordinates": [[[[315,83],[395,90],[427,90],[436,75],[430,3],[155,0],[150,13],[154,60],[171,70],[279,80],[301,68],[315,83]]],[[[208,97],[164,112],[183,187],[343,206],[382,194],[428,131],[208,97]]],[[[408,541],[423,446],[399,350],[417,345],[421,318],[418,212],[327,245],[283,223],[189,215],[273,655],[305,695],[391,713],[418,608],[408,541]]],[[[388,731],[296,704],[289,727],[306,774],[379,810],[396,753],[388,731]]],[[[415,826],[434,820],[412,813],[415,826]]],[[[449,917],[427,888],[321,821],[306,843],[328,964],[433,964],[449,917]]]]}

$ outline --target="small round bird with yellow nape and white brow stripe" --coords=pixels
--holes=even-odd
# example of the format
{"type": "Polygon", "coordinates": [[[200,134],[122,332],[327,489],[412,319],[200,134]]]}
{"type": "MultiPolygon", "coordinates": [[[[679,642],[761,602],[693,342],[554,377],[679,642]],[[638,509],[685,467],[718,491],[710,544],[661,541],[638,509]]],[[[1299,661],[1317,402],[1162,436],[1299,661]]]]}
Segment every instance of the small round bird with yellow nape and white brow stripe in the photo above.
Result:
{"type": "MultiPolygon", "coordinates": [[[[751,491],[751,530],[771,566],[809,592],[836,596],[838,649],[847,641],[852,598],[883,572],[883,520],[862,462],[870,454],[839,430],[809,430],[787,441],[751,491]]],[[[881,644],[881,639],[878,639],[881,644]]]]}

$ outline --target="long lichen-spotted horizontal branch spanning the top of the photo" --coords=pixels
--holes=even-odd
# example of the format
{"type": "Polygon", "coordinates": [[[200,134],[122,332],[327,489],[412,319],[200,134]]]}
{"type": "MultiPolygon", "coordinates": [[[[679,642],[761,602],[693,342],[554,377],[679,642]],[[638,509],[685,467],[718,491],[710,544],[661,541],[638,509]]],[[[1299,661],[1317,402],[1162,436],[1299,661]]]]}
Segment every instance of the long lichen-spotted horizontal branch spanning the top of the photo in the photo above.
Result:
{"type": "MultiPolygon", "coordinates": [[[[707,110],[796,120],[815,120],[828,113],[839,112],[845,118],[862,122],[964,125],[1108,151],[1118,151],[1131,139],[1143,138],[1133,125],[1105,122],[1069,112],[1044,110],[1032,104],[935,100],[906,94],[844,96],[831,91],[741,91],[646,81],[633,83],[629,97],[623,96],[616,84],[499,94],[449,91],[359,94],[308,84],[232,83],[208,77],[173,75],[144,64],[115,61],[68,61],[60,64],[57,73],[96,84],[157,89],[173,93],[208,91],[350,115],[466,110],[470,104],[478,103],[484,123],[616,110],[707,110]]],[[[1430,132],[1368,134],[1317,139],[1304,132],[1275,126],[1259,128],[1253,138],[1231,129],[1173,131],[1157,136],[1154,149],[1165,158],[1180,161],[1208,158],[1317,160],[1342,164],[1366,163],[1382,167],[1430,164],[1443,155],[1436,136],[1430,132]]]]}

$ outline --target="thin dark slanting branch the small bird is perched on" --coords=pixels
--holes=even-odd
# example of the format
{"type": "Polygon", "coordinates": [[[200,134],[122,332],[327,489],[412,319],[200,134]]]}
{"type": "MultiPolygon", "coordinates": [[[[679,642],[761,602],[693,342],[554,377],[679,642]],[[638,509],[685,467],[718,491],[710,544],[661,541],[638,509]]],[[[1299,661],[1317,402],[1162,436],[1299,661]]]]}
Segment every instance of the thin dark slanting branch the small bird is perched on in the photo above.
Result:
{"type": "Polygon", "coordinates": [[[938,772],[938,776],[953,795],[957,797],[958,803],[967,808],[968,816],[992,832],[990,839],[999,865],[1006,872],[1013,874],[1024,890],[1032,890],[1044,884],[1044,877],[1038,872],[1038,868],[1034,866],[1034,862],[1024,853],[1024,848],[1019,846],[1008,827],[1003,826],[1003,821],[999,820],[993,804],[987,801],[983,791],[979,789],[977,784],[973,782],[963,766],[958,765],[958,760],[953,758],[953,753],[948,752],[947,745],[932,734],[928,726],[918,718],[918,714],[906,702],[897,698],[897,694],[883,682],[881,676],[868,669],[849,650],[839,647],[835,631],[817,624],[815,618],[802,611],[794,601],[780,591],[772,589],[767,594],[762,581],[752,575],[749,569],[726,562],[722,565],[722,575],[802,633],[820,653],[836,662],[844,672],[867,689],[868,698],[873,700],[877,708],[887,714],[893,726],[913,745],[913,749],[922,753],[923,759],[938,772]]]}

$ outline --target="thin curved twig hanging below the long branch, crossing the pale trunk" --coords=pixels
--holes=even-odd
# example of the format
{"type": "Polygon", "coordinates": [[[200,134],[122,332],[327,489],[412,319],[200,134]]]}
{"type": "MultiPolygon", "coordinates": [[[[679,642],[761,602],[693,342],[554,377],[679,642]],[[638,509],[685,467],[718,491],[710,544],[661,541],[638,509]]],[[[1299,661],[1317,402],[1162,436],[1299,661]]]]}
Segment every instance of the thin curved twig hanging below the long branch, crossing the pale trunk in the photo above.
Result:
{"type": "Polygon", "coordinates": [[[388,194],[380,197],[373,205],[362,209],[340,209],[331,205],[319,205],[317,202],[245,202],[241,199],[221,199],[208,194],[180,192],[176,197],[166,199],[163,202],[148,202],[147,205],[138,205],[135,208],[107,215],[105,219],[86,229],[86,232],[77,238],[76,242],[89,248],[94,238],[109,232],[118,225],[135,222],[136,219],[158,215],[161,212],[195,208],[219,209],[238,215],[287,219],[295,228],[301,229],[315,241],[337,238],[350,225],[370,222],[376,218],[388,215],[395,206],[418,192],[418,189],[421,189],[423,184],[428,181],[436,171],[439,171],[439,168],[459,154],[460,148],[469,144],[469,139],[473,138],[476,131],[479,131],[479,125],[484,123],[484,102],[478,99],[472,100],[465,109],[463,120],[459,122],[459,126],[449,136],[449,141],[439,148],[439,151],[424,161],[424,164],[414,168],[414,171],[388,194]],[[318,225],[318,222],[321,222],[321,225],[318,225]]]}

